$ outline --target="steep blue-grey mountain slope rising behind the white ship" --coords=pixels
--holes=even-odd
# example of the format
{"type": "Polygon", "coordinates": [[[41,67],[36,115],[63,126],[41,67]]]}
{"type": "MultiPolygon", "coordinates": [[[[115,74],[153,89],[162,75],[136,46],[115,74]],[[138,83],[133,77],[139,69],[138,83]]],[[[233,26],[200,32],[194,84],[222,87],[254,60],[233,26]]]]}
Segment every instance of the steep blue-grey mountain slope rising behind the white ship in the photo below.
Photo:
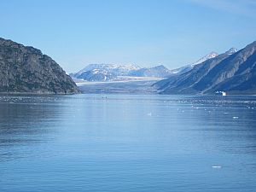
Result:
{"type": "Polygon", "coordinates": [[[256,42],[196,64],[154,86],[163,94],[256,94],[256,42]]]}

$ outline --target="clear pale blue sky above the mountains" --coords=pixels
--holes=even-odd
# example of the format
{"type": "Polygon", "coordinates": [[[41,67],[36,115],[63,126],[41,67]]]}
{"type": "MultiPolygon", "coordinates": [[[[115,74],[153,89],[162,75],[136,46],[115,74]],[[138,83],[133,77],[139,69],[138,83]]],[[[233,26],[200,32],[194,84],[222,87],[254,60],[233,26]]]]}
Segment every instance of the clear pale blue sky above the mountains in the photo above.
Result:
{"type": "Polygon", "coordinates": [[[256,40],[255,0],[2,0],[0,37],[67,72],[90,63],[164,65],[256,40]]]}

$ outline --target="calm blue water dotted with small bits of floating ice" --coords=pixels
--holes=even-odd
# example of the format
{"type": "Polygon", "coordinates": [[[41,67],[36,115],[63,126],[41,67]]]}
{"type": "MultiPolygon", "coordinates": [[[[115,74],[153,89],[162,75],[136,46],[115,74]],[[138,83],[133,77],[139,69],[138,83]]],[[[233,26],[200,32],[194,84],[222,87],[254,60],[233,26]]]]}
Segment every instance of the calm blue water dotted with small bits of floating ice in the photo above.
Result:
{"type": "Polygon", "coordinates": [[[0,96],[0,191],[256,191],[256,96],[0,96]]]}

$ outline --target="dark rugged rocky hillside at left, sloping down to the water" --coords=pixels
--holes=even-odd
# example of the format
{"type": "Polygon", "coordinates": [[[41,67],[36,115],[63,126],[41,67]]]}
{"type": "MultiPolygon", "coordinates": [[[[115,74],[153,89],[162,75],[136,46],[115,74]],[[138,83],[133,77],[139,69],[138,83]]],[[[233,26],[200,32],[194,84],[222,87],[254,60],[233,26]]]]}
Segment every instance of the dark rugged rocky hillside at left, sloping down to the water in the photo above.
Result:
{"type": "Polygon", "coordinates": [[[79,90],[39,49],[0,38],[0,92],[70,94],[79,90]]]}

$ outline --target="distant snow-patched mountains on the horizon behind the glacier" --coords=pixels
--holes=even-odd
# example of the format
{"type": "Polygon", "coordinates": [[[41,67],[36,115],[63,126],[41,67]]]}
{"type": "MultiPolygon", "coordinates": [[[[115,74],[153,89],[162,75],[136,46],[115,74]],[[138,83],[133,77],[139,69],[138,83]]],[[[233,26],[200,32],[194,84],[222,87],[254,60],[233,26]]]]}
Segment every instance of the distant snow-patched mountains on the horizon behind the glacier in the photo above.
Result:
{"type": "MultiPolygon", "coordinates": [[[[122,77],[150,77],[169,78],[173,75],[186,73],[196,64],[216,57],[218,54],[211,52],[203,56],[199,61],[177,69],[168,69],[163,65],[156,67],[138,67],[137,65],[116,65],[116,64],[90,64],[78,73],[71,73],[74,79],[84,79],[86,81],[115,81],[122,80],[122,77]]],[[[124,79],[124,78],[123,78],[124,79]]]]}

